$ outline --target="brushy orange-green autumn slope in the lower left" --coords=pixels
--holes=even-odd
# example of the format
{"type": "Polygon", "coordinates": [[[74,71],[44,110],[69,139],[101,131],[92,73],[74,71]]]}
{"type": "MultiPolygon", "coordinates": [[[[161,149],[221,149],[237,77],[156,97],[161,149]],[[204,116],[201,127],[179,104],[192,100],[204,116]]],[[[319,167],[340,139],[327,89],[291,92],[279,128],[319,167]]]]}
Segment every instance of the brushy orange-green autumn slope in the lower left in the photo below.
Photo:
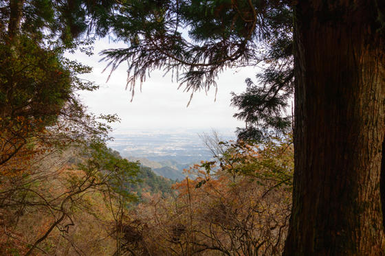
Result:
{"type": "Polygon", "coordinates": [[[122,214],[142,194],[170,194],[170,181],[105,146],[33,160],[19,174],[2,172],[1,255],[113,255],[122,214]]]}

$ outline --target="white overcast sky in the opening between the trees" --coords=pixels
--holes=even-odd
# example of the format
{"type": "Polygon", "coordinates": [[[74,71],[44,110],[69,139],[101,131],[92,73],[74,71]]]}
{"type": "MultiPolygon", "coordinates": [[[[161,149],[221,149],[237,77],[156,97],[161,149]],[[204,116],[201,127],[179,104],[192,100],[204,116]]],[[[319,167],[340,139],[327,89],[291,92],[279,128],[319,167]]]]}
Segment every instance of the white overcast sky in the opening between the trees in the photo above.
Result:
{"type": "Polygon", "coordinates": [[[230,106],[230,92],[241,93],[245,90],[245,78],[254,78],[256,69],[252,67],[239,70],[228,70],[219,75],[217,100],[214,102],[215,90],[208,94],[204,91],[195,93],[190,106],[186,107],[190,93],[177,90],[177,82],[172,82],[170,75],[163,77],[162,71],[153,71],[151,78],[135,89],[131,101],[131,92],[125,90],[126,64],[122,64],[113,72],[106,82],[109,71],[102,73],[106,62],[98,62],[102,49],[124,47],[124,44],[109,43],[107,38],[95,44],[94,56],[74,54],[71,58],[93,67],[93,72],[83,75],[100,89],[94,92],[81,92],[80,97],[91,112],[96,114],[119,115],[120,124],[114,124],[116,133],[129,130],[235,130],[243,127],[243,121],[232,117],[236,108],[230,106]]]}

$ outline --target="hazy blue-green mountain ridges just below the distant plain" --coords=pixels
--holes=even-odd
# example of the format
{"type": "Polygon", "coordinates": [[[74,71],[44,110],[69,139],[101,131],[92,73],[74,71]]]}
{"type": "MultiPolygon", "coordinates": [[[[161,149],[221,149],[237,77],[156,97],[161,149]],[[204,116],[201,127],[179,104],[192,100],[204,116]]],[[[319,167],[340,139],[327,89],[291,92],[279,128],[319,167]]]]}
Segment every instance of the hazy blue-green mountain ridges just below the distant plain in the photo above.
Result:
{"type": "Polygon", "coordinates": [[[141,165],[145,167],[150,167],[155,174],[163,176],[164,178],[170,178],[173,181],[183,180],[186,178],[183,170],[188,169],[191,164],[178,163],[173,160],[164,160],[164,161],[151,161],[142,157],[128,156],[126,157],[129,161],[139,161],[141,165]]]}

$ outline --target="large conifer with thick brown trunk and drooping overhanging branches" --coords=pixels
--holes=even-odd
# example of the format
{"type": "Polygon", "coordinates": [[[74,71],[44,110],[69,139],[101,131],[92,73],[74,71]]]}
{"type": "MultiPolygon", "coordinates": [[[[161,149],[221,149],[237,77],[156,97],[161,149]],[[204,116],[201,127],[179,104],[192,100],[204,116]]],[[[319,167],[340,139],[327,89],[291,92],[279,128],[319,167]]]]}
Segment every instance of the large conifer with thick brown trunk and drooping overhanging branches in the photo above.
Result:
{"type": "Polygon", "coordinates": [[[132,92],[153,69],[194,93],[264,63],[232,103],[251,128],[239,135],[258,138],[290,124],[295,89],[285,255],[384,255],[384,13],[377,0],[129,1],[111,20],[128,47],[103,54],[111,71],[129,63],[132,92]]]}

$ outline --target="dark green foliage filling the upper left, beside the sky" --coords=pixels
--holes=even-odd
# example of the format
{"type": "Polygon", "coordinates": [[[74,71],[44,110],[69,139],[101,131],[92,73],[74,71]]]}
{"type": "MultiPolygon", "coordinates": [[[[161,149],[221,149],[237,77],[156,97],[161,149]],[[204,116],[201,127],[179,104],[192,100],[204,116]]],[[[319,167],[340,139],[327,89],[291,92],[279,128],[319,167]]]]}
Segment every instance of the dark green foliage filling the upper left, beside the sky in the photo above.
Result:
{"type": "MultiPolygon", "coordinates": [[[[108,125],[85,113],[76,97],[78,90],[98,88],[77,77],[89,73],[91,68],[63,56],[65,51],[76,49],[90,53],[91,40],[78,38],[85,32],[100,30],[100,25],[92,25],[91,21],[96,21],[102,10],[109,10],[101,8],[102,3],[0,1],[0,166],[3,170],[19,170],[15,167],[17,159],[33,158],[52,145],[63,148],[74,141],[107,139],[108,125]]],[[[107,123],[116,120],[111,115],[101,118],[107,123]]]]}

